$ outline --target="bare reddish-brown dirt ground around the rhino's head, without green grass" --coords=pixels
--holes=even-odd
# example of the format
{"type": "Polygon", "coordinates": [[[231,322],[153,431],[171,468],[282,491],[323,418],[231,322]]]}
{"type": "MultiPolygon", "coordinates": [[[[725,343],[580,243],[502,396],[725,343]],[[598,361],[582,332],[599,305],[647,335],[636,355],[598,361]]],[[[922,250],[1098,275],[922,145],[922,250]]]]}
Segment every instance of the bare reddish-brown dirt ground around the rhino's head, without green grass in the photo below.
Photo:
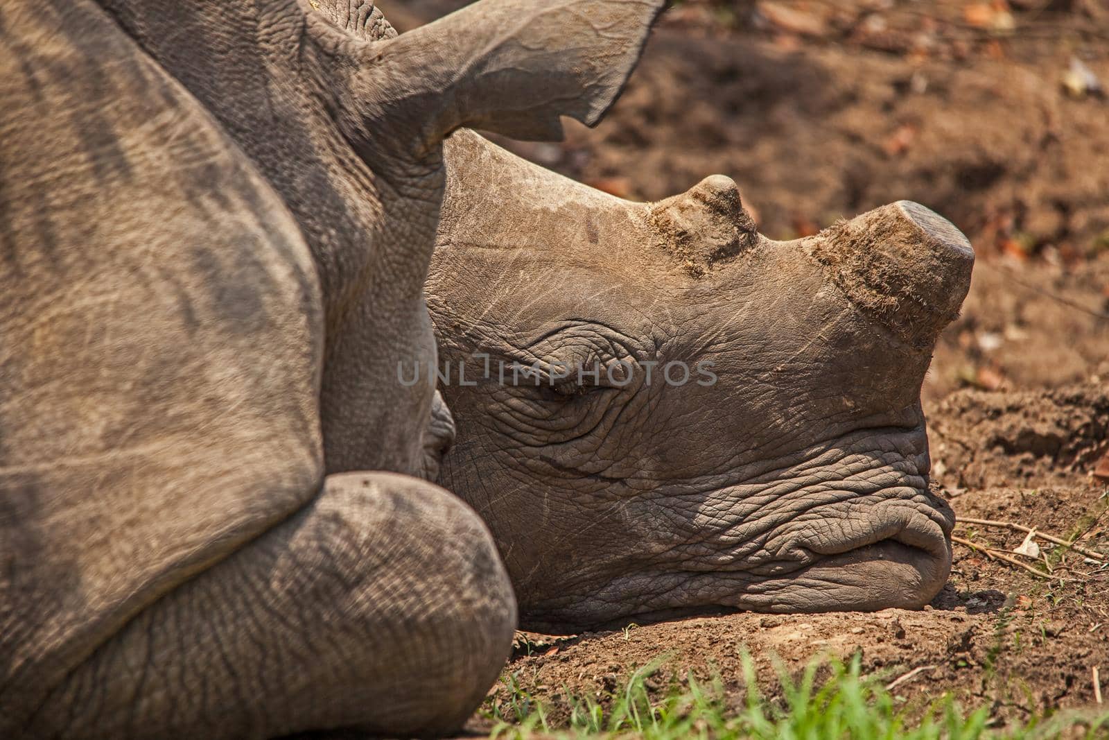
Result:
{"type": "MultiPolygon", "coordinates": [[[[406,28],[461,3],[380,4],[406,28]]],[[[509,670],[556,719],[567,690],[603,696],[660,656],[660,690],[692,671],[740,697],[742,646],[767,682],[772,655],[796,668],[861,651],[889,681],[920,669],[895,687],[906,701],[954,691],[998,721],[1091,704],[1095,668],[1109,697],[1109,565],[1042,538],[1036,560],[1013,553],[1025,533],[969,521],[1109,553],[1109,478],[1092,476],[1109,454],[1105,87],[1105,0],[686,1],[663,14],[597,129],[510,144],[632,199],[728,174],[777,239],[916,200],[978,254],[924,388],[934,483],[970,544],[956,543],[932,606],[521,635],[509,670]]]]}

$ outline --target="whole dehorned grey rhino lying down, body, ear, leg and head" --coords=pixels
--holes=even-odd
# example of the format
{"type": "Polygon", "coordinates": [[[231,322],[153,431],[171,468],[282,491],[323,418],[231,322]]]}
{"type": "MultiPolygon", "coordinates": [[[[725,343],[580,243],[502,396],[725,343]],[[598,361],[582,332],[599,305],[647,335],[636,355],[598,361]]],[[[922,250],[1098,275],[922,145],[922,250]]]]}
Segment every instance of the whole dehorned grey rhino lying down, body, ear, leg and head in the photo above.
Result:
{"type": "Polygon", "coordinates": [[[576,629],[932,597],[950,224],[776,244],[726,178],[634,204],[456,132],[596,122],[660,6],[0,11],[0,734],[435,734],[517,601],[576,629]],[[401,377],[433,321],[476,384],[401,377]]]}

